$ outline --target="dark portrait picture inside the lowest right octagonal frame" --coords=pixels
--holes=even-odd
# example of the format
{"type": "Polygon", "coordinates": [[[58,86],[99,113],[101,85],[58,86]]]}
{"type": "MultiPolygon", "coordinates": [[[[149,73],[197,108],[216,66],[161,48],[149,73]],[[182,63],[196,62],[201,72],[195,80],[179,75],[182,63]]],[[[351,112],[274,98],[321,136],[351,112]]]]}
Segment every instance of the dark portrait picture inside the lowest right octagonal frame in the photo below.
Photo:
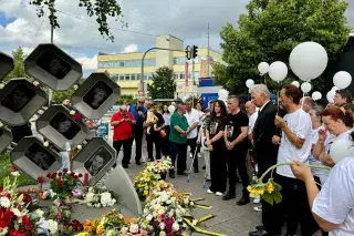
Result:
{"type": "Polygon", "coordinates": [[[111,153],[101,146],[85,163],[84,167],[92,176],[96,176],[101,170],[112,160],[111,153]]]}

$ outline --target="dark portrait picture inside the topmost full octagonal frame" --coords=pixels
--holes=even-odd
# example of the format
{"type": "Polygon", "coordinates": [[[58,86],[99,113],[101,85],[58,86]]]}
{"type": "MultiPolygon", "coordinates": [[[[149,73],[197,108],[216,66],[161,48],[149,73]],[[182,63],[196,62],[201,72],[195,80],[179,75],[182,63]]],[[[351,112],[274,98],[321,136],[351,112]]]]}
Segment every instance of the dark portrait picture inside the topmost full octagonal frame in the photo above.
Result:
{"type": "Polygon", "coordinates": [[[48,50],[38,60],[37,64],[58,80],[62,80],[72,70],[71,65],[48,50]]]}

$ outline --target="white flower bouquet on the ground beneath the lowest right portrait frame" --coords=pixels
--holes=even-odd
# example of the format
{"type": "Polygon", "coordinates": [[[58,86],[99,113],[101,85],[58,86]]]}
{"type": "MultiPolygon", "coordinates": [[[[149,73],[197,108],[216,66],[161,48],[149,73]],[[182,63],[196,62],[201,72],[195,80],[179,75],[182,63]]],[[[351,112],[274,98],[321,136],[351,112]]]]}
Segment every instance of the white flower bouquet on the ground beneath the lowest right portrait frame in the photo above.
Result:
{"type": "Polygon", "coordinates": [[[96,187],[88,187],[85,195],[85,202],[91,207],[107,207],[113,206],[116,203],[114,194],[108,191],[101,191],[96,187]]]}

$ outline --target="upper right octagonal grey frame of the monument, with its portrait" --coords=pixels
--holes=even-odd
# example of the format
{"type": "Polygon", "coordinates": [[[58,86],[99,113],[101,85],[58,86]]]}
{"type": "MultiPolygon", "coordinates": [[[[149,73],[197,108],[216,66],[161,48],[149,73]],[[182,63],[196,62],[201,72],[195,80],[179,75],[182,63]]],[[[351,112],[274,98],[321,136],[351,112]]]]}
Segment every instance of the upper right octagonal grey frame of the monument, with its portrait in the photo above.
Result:
{"type": "Polygon", "coordinates": [[[92,73],[72,95],[71,102],[84,116],[101,119],[121,95],[121,88],[105,73],[92,73]]]}

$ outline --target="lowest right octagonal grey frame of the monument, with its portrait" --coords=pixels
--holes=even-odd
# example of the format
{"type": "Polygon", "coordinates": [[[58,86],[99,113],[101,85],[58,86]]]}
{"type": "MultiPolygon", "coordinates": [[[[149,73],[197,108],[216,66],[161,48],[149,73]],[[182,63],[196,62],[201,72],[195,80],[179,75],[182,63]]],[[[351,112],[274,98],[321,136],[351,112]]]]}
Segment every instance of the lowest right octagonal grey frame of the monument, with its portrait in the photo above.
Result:
{"type": "Polygon", "coordinates": [[[88,173],[88,185],[95,185],[115,164],[116,155],[116,151],[104,138],[93,137],[73,157],[72,171],[83,176],[88,173]]]}

